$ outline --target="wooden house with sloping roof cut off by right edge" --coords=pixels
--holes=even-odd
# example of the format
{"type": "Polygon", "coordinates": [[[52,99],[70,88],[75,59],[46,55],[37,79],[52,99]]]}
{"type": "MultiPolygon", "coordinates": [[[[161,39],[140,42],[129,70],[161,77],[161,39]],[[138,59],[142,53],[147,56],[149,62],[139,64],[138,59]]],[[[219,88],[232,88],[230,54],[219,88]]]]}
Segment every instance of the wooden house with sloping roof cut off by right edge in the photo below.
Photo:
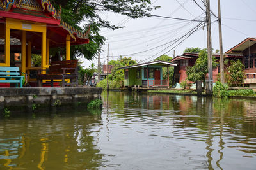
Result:
{"type": "Polygon", "coordinates": [[[256,87],[256,38],[246,38],[230,50],[227,55],[242,55],[243,64],[245,66],[246,78],[245,84],[250,87],[256,87]]]}

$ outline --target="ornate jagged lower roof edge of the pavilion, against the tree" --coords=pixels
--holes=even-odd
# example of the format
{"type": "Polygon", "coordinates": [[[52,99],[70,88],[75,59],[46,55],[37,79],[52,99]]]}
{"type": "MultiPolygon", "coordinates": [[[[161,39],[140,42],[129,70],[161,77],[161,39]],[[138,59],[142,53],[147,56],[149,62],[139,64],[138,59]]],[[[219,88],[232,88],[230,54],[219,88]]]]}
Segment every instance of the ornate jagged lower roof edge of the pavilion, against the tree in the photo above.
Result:
{"type": "Polygon", "coordinates": [[[77,29],[75,29],[74,27],[72,27],[71,25],[67,24],[64,21],[61,21],[59,26],[65,30],[67,30],[69,32],[71,38],[73,38],[75,41],[76,41],[76,36],[77,36],[77,38],[80,38],[80,39],[88,39],[88,32],[90,31],[90,27],[89,27],[88,31],[86,32],[86,34],[83,34],[82,32],[78,31],[77,29]]]}

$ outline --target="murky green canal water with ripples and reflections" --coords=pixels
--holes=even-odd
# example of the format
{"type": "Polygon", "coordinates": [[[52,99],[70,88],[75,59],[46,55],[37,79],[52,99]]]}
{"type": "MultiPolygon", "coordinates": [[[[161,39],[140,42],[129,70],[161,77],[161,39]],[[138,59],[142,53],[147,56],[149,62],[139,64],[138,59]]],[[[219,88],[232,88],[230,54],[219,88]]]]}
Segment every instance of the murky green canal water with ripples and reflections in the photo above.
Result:
{"type": "Polygon", "coordinates": [[[256,167],[256,101],[125,92],[102,100],[102,110],[1,117],[0,169],[256,167]]]}

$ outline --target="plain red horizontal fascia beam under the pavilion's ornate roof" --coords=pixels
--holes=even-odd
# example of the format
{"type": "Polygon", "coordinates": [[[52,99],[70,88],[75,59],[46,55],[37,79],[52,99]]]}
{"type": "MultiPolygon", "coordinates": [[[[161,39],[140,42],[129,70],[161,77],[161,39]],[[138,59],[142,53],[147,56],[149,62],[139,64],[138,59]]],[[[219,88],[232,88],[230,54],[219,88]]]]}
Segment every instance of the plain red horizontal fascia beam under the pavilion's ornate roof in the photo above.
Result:
{"type": "Polygon", "coordinates": [[[55,20],[55,19],[51,19],[51,18],[35,17],[35,16],[31,16],[31,15],[22,15],[22,14],[17,15],[17,13],[12,13],[12,12],[8,12],[8,11],[0,11],[0,15],[3,17],[6,17],[6,18],[14,18],[14,19],[18,19],[18,20],[29,20],[29,21],[33,21],[33,22],[42,22],[42,23],[46,23],[46,24],[56,24],[56,25],[60,24],[60,20],[55,20]]]}

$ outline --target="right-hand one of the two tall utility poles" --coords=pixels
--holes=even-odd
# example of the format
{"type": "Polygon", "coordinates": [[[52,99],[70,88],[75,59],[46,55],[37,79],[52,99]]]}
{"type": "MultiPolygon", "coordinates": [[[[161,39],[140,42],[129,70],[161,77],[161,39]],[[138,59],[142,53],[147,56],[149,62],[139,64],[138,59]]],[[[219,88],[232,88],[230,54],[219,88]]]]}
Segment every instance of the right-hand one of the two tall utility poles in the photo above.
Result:
{"type": "Polygon", "coordinates": [[[219,20],[219,41],[220,41],[220,81],[225,83],[224,79],[224,59],[223,59],[223,45],[222,45],[222,30],[221,30],[221,11],[220,0],[218,0],[218,20],[219,20]]]}

